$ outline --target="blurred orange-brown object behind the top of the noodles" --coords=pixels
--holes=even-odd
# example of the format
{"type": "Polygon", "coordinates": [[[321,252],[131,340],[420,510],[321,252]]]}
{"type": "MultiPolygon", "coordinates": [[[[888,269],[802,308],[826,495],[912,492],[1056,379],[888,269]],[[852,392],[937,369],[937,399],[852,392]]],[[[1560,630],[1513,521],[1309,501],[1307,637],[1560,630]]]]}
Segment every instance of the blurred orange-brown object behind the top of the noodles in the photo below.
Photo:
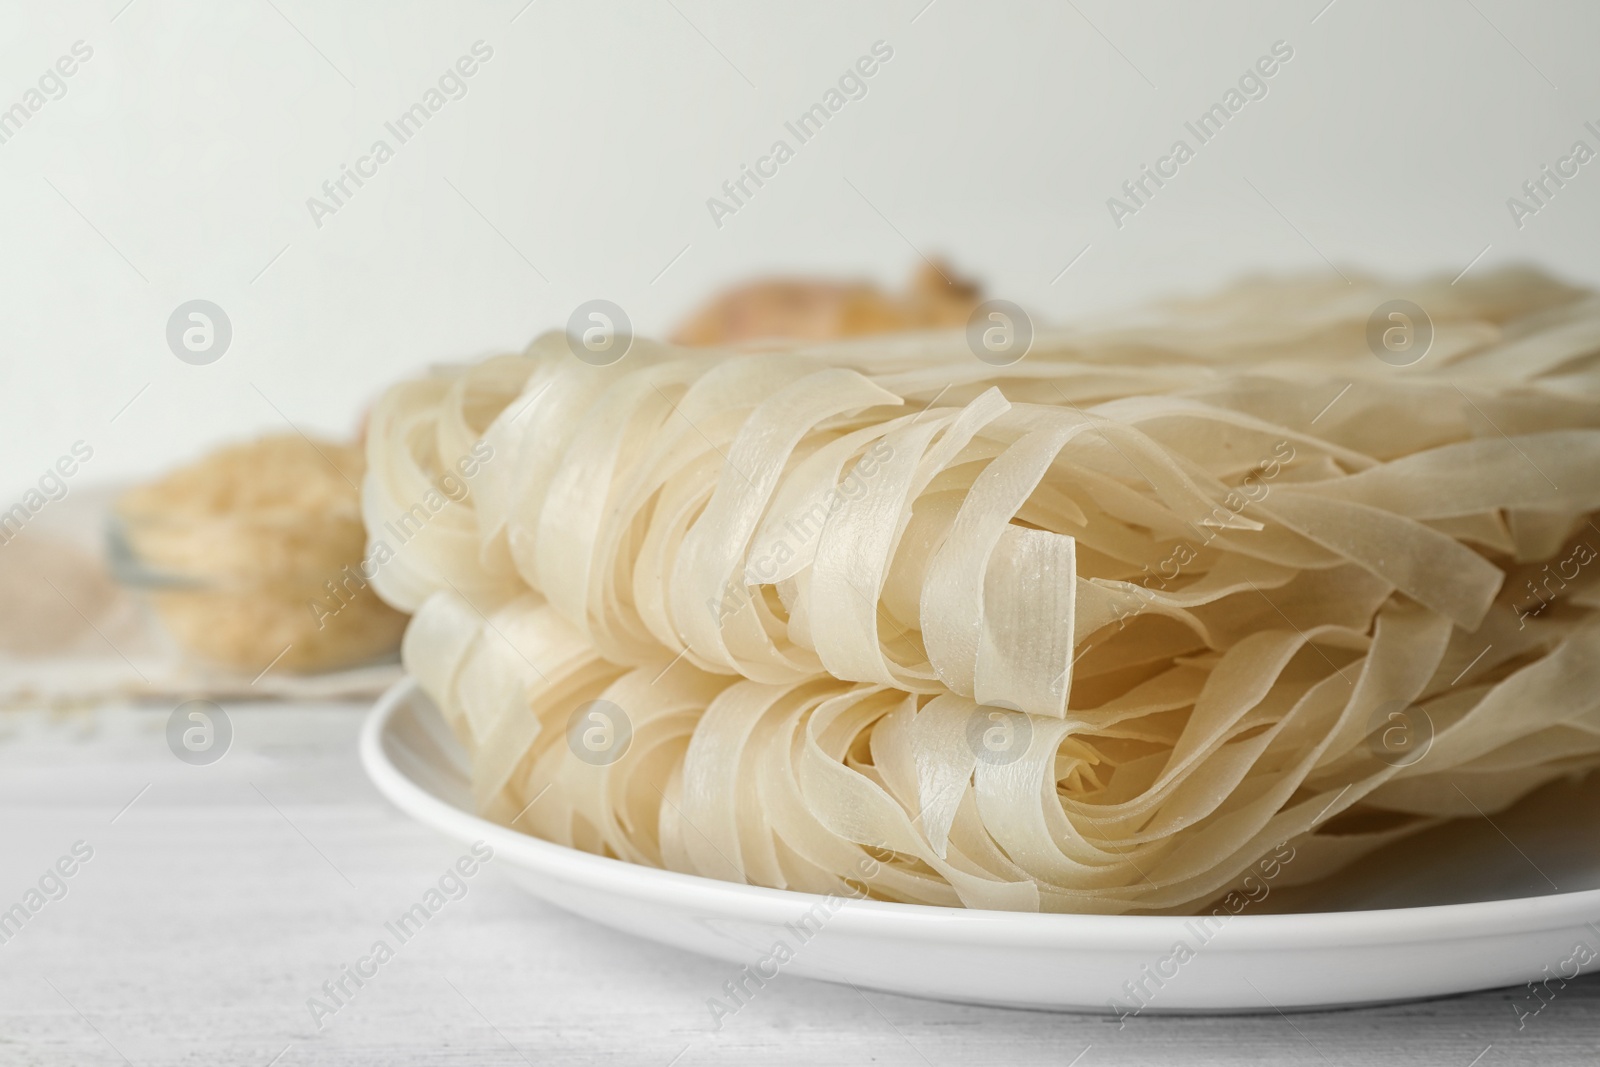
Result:
{"type": "Polygon", "coordinates": [[[762,338],[827,341],[899,330],[965,326],[978,306],[973,282],[944,264],[925,264],[904,294],[869,283],[773,278],[730,290],[672,338],[678,344],[738,344],[762,338]]]}

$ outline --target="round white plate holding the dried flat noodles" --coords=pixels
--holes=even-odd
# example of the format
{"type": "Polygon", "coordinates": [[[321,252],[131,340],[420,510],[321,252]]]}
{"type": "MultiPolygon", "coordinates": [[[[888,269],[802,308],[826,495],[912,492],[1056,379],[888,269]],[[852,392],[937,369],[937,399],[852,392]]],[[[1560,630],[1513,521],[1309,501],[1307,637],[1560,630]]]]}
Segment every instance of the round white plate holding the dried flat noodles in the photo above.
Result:
{"type": "Polygon", "coordinates": [[[1258,913],[1298,905],[1294,893],[1309,899],[1283,889],[1202,937],[1198,920],[1176,917],[830,907],[827,897],[640,867],[509,830],[472,814],[464,755],[410,680],[373,707],[362,763],[402,811],[459,841],[488,841],[496,867],[534,896],[766,977],[781,968],[1014,1008],[1222,1013],[1438,997],[1600,966],[1600,776],[1546,790],[1494,824],[1413,838],[1339,878],[1339,897],[1323,891],[1323,907],[1368,910],[1258,913]],[[787,953],[774,952],[779,942],[787,953]]]}

